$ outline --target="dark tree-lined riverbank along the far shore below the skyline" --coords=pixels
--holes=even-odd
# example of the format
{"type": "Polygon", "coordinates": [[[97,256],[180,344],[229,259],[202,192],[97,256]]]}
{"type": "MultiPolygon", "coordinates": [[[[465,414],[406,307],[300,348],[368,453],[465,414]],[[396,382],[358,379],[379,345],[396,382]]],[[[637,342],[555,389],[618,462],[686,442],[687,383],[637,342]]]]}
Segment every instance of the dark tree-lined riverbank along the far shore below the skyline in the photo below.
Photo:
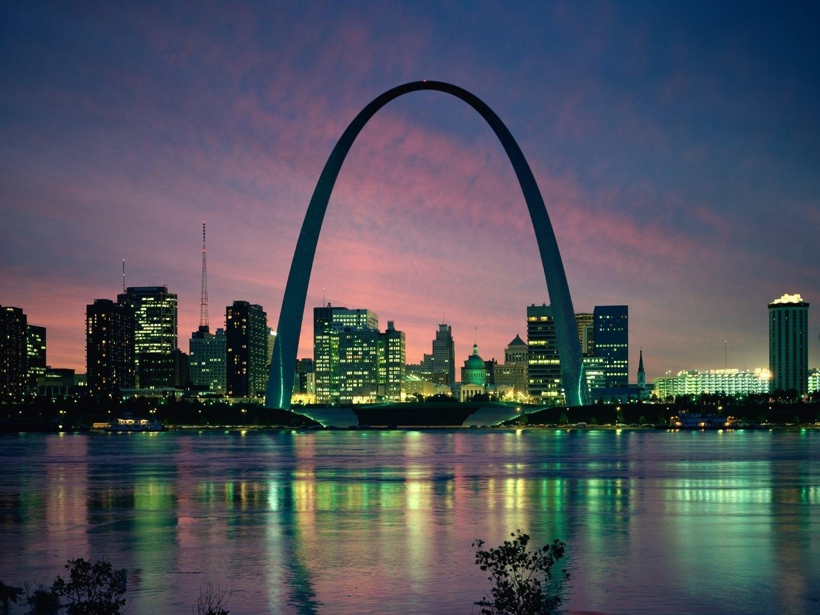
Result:
{"type": "MultiPolygon", "coordinates": [[[[440,397],[440,396],[439,396],[440,397]]],[[[462,426],[471,412],[482,407],[507,406],[490,400],[458,403],[457,400],[427,399],[417,403],[377,404],[353,407],[360,426],[462,426]]],[[[125,401],[96,401],[90,397],[48,399],[35,397],[23,403],[0,406],[0,431],[89,430],[94,423],[116,421],[125,412],[134,417],[161,421],[163,426],[246,426],[256,428],[321,429],[310,418],[317,406],[294,406],[293,412],[264,408],[258,403],[225,403],[135,398],[125,401]]],[[[516,417],[504,426],[564,426],[584,422],[587,426],[665,427],[669,417],[681,411],[736,417],[741,426],[763,424],[815,426],[820,423],[820,402],[796,403],[788,399],[751,399],[738,403],[720,394],[678,398],[670,403],[623,403],[544,408],[518,404],[516,417]]]]}

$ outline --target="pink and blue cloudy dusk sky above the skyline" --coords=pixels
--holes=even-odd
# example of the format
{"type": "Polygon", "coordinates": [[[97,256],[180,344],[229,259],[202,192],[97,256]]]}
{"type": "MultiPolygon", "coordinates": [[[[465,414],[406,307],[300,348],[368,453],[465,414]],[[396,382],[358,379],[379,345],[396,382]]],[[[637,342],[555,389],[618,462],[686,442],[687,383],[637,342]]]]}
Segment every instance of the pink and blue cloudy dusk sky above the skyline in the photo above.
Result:
{"type": "MultiPolygon", "coordinates": [[[[198,325],[235,299],[276,327],[330,149],[376,95],[450,81],[490,104],[531,163],[577,312],[626,303],[631,372],[768,363],[766,304],[813,303],[820,364],[816,7],[572,3],[130,9],[7,4],[0,78],[0,304],[84,371],[84,308],[130,285],[198,325]],[[594,10],[593,10],[594,9],[594,10]]],[[[311,310],[369,307],[408,362],[453,326],[458,361],[526,334],[547,300],[526,205],[480,117],[441,93],[379,112],[339,175],[311,310]],[[476,333],[477,327],[477,333],[476,333]]]]}

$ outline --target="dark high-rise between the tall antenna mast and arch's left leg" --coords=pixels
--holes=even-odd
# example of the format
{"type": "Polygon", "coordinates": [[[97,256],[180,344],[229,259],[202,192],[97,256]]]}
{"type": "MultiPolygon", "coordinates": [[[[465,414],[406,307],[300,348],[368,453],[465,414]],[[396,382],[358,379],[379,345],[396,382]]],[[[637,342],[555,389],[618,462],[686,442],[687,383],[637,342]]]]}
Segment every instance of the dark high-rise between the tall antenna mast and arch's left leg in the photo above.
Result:
{"type": "Polygon", "coordinates": [[[225,382],[230,397],[265,394],[269,337],[261,305],[235,301],[225,307],[225,382]]]}

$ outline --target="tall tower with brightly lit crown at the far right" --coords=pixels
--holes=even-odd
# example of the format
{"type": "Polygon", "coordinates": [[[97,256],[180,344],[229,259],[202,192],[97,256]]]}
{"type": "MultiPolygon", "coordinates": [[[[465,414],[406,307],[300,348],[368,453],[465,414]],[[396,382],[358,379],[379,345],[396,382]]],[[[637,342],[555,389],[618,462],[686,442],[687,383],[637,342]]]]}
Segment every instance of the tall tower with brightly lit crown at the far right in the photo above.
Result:
{"type": "Polygon", "coordinates": [[[768,304],[772,390],[809,390],[809,303],[784,294],[768,304]]]}

